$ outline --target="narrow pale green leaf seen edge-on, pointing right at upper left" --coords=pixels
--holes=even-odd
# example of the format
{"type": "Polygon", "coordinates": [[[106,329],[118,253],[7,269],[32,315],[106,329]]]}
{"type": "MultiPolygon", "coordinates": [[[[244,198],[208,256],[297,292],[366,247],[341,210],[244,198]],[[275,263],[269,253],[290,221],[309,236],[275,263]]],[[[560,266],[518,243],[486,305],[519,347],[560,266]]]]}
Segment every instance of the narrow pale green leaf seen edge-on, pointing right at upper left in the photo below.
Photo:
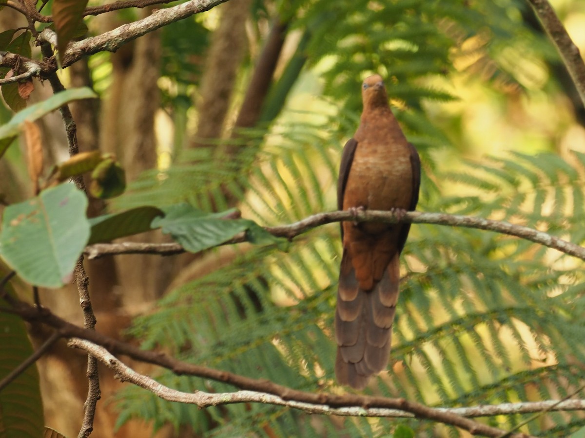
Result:
{"type": "Polygon", "coordinates": [[[30,105],[26,109],[19,111],[8,123],[0,126],[0,157],[4,155],[12,140],[16,138],[25,120],[35,121],[72,100],[91,98],[97,98],[97,95],[90,88],[72,88],[61,91],[49,99],[43,100],[43,102],[35,103],[35,105],[30,105]]]}

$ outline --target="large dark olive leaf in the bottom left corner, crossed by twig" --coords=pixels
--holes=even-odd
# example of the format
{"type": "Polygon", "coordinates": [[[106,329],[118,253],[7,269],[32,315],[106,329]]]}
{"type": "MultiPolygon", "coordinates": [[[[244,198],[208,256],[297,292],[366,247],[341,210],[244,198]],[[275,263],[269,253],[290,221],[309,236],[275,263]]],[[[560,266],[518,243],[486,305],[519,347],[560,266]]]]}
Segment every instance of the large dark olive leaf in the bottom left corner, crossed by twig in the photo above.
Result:
{"type": "MultiPolygon", "coordinates": [[[[6,273],[2,272],[2,277],[6,273]]],[[[13,294],[9,284],[5,286],[13,294]]],[[[0,305],[6,305],[0,299],[0,305]]],[[[16,315],[0,312],[0,379],[33,353],[25,324],[16,315]]],[[[28,367],[0,391],[0,434],[5,438],[36,438],[43,433],[39,373],[28,367]]]]}

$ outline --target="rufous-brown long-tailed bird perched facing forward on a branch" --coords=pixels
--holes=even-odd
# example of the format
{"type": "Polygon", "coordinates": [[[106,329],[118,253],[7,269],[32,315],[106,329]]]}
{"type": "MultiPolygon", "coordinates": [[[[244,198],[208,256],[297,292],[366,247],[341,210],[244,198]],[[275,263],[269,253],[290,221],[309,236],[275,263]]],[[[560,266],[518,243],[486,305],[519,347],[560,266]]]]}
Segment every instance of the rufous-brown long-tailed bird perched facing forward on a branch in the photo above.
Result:
{"type": "MultiPolygon", "coordinates": [[[[384,82],[373,75],[362,85],[363,112],[343,148],[339,210],[414,210],[421,161],[394,118],[384,82]]],[[[410,224],[343,222],[343,258],[335,311],[339,383],[356,389],[386,369],[398,300],[400,252],[410,224]]]]}

